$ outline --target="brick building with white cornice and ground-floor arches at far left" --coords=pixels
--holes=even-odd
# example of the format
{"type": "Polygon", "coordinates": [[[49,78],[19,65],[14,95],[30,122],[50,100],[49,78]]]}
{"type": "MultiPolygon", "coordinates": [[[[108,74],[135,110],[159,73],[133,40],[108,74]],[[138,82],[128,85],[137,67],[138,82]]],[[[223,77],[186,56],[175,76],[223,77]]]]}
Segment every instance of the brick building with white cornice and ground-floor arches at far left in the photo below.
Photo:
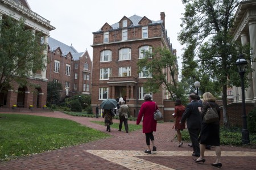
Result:
{"type": "MultiPolygon", "coordinates": [[[[53,27],[49,20],[33,12],[26,0],[0,1],[0,20],[12,15],[16,20],[24,18],[26,29],[30,29],[33,33],[43,34],[43,43],[48,43],[49,32],[53,27]]],[[[47,57],[47,50],[43,52],[47,57]]],[[[47,63],[45,63],[47,65],[47,63]]],[[[47,95],[47,78],[46,71],[39,70],[36,76],[27,78],[28,85],[20,87],[17,83],[13,82],[13,88],[5,88],[0,93],[1,107],[12,107],[14,104],[18,107],[28,108],[30,105],[42,108],[46,104],[47,95]],[[30,86],[32,84],[32,86],[30,86]]]]}

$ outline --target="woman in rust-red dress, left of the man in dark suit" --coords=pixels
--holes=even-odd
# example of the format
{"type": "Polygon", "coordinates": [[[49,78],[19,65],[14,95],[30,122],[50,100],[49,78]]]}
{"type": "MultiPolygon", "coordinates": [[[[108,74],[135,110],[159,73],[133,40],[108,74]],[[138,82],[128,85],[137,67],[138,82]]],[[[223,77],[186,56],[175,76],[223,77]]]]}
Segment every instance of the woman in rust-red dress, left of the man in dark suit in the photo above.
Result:
{"type": "Polygon", "coordinates": [[[180,131],[185,129],[185,124],[180,124],[180,119],[184,112],[185,112],[185,107],[184,105],[181,104],[181,100],[176,99],[175,108],[174,108],[174,118],[176,117],[175,130],[177,131],[177,141],[179,142],[178,147],[181,147],[183,145],[180,131]]]}

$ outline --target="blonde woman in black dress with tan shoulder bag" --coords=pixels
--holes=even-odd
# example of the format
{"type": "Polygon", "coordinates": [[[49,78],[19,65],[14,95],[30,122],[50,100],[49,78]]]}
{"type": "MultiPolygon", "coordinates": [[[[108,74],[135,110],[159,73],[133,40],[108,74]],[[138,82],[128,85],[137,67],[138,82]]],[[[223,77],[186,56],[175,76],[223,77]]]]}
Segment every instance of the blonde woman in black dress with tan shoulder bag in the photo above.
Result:
{"type": "Polygon", "coordinates": [[[199,112],[201,114],[202,119],[202,127],[201,127],[201,133],[199,136],[200,140],[200,157],[198,159],[195,159],[195,162],[205,162],[204,158],[204,152],[205,152],[205,145],[212,145],[215,146],[215,152],[216,152],[216,162],[212,163],[211,165],[214,167],[222,167],[220,158],[221,158],[221,148],[220,148],[220,108],[218,107],[218,104],[215,103],[216,99],[210,92],[205,92],[203,94],[203,106],[199,107],[199,112]],[[205,113],[207,112],[208,108],[216,108],[219,120],[207,124],[204,122],[203,117],[205,113]]]}

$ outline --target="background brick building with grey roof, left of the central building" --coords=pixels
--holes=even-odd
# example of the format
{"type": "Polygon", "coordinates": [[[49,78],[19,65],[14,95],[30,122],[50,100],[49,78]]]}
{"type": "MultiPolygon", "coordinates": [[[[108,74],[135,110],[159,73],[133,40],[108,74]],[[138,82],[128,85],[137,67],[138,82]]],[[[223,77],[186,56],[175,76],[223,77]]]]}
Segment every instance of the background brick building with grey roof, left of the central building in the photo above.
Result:
{"type": "Polygon", "coordinates": [[[79,53],[72,45],[68,46],[49,37],[48,61],[48,81],[63,84],[61,101],[67,96],[90,95],[92,61],[87,50],[79,53]]]}

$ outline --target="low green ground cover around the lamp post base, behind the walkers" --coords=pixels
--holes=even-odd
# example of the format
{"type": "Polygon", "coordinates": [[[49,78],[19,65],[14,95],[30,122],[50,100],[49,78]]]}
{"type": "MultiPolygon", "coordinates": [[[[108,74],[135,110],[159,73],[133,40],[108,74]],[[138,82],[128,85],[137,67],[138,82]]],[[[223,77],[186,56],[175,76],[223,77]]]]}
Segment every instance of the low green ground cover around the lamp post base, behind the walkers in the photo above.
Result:
{"type": "MultiPolygon", "coordinates": [[[[181,131],[182,138],[184,141],[191,141],[188,130],[181,131]]],[[[220,128],[220,144],[230,146],[242,146],[242,133],[241,128],[220,128]]],[[[256,134],[250,133],[250,145],[249,147],[256,147],[256,134]]]]}

